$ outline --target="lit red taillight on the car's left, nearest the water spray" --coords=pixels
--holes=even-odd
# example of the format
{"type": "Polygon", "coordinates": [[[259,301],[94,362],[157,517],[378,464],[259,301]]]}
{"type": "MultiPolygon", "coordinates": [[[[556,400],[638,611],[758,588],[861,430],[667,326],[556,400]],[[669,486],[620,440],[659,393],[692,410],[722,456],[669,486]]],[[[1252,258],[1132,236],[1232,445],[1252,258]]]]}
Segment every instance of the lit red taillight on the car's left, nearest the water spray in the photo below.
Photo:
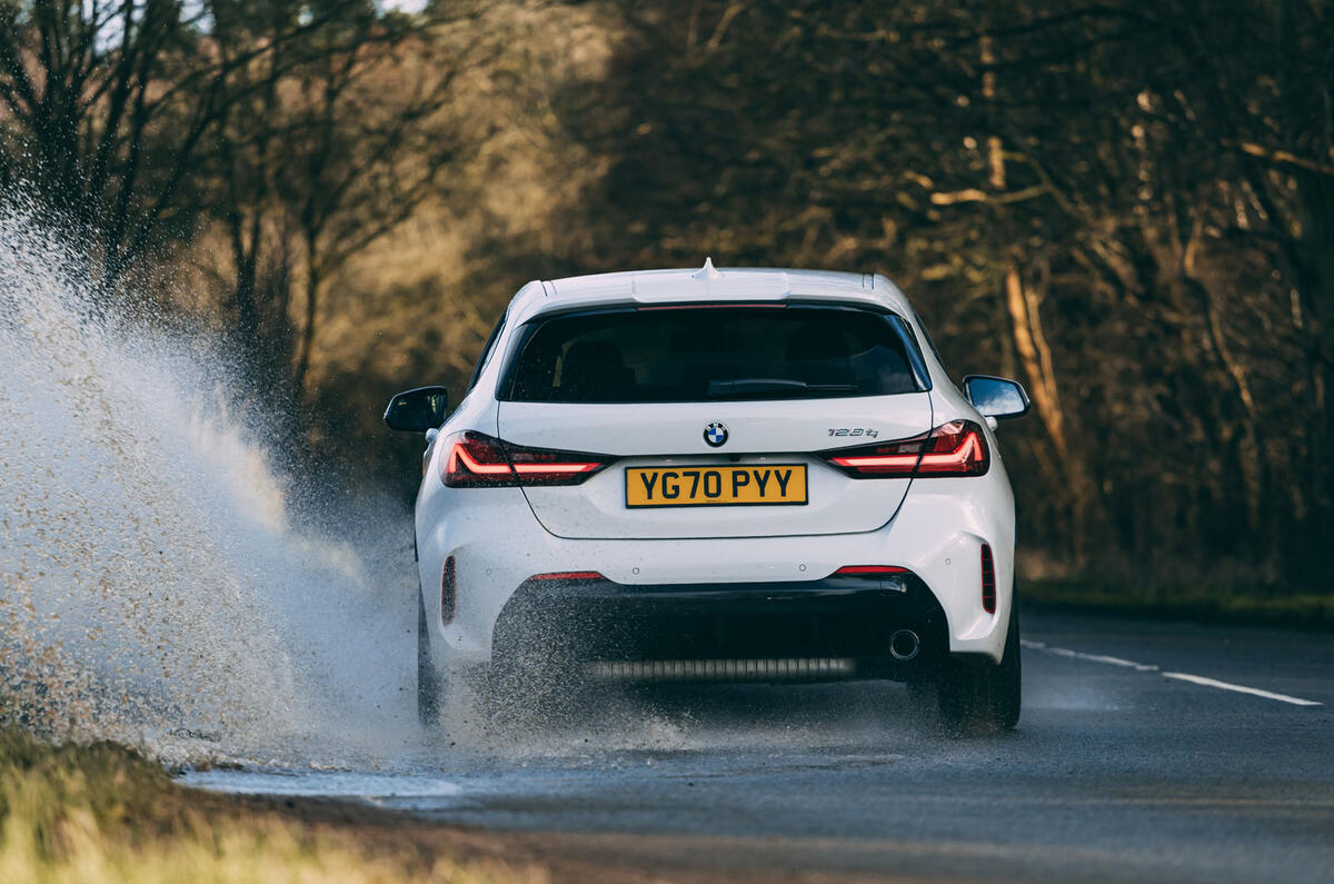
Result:
{"type": "Polygon", "coordinates": [[[440,481],[450,487],[579,485],[611,462],[598,454],[532,449],[484,433],[455,433],[444,439],[440,481]]]}

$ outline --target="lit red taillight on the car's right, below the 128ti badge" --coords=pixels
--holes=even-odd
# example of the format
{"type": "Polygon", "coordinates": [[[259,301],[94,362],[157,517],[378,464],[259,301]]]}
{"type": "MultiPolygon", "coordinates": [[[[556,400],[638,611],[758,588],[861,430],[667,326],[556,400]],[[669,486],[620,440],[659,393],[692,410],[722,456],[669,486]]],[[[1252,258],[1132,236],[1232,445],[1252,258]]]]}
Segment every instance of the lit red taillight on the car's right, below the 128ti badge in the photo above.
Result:
{"type": "Polygon", "coordinates": [[[820,457],[858,479],[983,475],[991,467],[987,438],[972,421],[950,421],[924,435],[836,449],[820,457]]]}

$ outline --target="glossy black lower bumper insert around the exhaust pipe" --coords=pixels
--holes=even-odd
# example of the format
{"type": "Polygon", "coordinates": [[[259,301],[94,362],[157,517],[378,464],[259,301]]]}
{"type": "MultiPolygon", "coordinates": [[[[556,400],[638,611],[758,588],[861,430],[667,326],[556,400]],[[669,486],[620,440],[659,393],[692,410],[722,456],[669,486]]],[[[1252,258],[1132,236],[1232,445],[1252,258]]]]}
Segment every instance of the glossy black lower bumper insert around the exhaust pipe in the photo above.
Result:
{"type": "Polygon", "coordinates": [[[496,622],[506,668],[618,681],[912,678],[948,654],[944,612],[912,574],[626,585],[526,581],[496,622]],[[898,630],[916,636],[892,654],[898,630]]]}

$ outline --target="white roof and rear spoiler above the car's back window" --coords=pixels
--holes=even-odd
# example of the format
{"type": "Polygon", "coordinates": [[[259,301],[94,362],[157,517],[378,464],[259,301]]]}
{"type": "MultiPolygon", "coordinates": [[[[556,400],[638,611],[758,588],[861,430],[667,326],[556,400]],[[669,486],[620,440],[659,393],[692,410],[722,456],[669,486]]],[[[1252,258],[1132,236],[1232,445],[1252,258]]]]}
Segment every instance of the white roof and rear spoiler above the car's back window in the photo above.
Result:
{"type": "Polygon", "coordinates": [[[880,275],[768,267],[634,270],[531,282],[514,307],[523,320],[538,312],[608,303],[763,302],[790,298],[864,300],[904,308],[903,294],[880,275]]]}

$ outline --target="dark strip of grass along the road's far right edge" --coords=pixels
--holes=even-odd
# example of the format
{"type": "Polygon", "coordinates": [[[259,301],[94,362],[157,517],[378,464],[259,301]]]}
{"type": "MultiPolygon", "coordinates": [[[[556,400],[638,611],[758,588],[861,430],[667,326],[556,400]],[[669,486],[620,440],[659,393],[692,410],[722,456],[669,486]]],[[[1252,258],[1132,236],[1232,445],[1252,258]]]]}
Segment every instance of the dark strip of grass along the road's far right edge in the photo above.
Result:
{"type": "Polygon", "coordinates": [[[1018,589],[1023,602],[1057,610],[1334,630],[1334,593],[1094,580],[1030,580],[1019,581],[1018,589]]]}

